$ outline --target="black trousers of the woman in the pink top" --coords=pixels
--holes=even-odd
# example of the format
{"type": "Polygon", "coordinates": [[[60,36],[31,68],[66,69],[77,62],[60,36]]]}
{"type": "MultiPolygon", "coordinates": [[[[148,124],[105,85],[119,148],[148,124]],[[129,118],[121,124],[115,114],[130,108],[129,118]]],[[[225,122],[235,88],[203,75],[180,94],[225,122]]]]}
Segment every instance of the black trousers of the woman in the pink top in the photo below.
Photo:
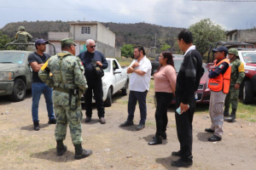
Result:
{"type": "Polygon", "coordinates": [[[156,135],[161,135],[166,132],[168,123],[167,109],[172,102],[173,94],[166,92],[155,92],[156,98],[156,110],[155,110],[155,122],[156,122],[156,135]]]}

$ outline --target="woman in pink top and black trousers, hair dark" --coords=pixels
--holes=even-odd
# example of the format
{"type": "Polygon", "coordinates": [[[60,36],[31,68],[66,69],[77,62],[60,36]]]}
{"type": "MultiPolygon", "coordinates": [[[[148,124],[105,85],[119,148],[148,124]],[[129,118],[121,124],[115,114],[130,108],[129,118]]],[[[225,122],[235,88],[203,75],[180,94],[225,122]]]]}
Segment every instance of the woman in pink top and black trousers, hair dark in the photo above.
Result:
{"type": "Polygon", "coordinates": [[[156,97],[156,133],[154,139],[148,144],[162,144],[166,139],[166,126],[168,123],[167,109],[175,94],[176,71],[172,59],[172,53],[164,51],[159,57],[160,67],[154,73],[154,92],[156,97]]]}

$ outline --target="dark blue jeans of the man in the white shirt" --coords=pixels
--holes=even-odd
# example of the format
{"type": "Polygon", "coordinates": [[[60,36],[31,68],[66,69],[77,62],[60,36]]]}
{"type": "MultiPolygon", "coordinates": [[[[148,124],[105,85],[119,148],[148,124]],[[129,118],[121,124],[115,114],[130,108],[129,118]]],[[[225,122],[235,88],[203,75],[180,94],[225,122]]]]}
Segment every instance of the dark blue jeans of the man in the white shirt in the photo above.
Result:
{"type": "Polygon", "coordinates": [[[134,111],[137,105],[137,101],[140,108],[141,113],[141,121],[140,124],[145,125],[146,118],[147,118],[147,105],[146,105],[146,97],[148,94],[148,90],[145,92],[136,92],[130,91],[129,94],[129,101],[128,101],[128,121],[133,121],[134,111]]]}

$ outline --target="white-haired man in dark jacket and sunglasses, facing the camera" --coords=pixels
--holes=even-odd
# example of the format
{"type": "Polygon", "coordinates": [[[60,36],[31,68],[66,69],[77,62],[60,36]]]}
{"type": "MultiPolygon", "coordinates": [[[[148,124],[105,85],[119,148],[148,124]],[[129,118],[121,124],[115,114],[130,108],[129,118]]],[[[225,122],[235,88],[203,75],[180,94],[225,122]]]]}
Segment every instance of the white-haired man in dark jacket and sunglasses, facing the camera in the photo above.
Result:
{"type": "Polygon", "coordinates": [[[106,123],[105,116],[105,108],[103,105],[103,91],[102,91],[102,77],[98,77],[96,75],[96,71],[91,65],[92,61],[96,61],[96,65],[102,67],[102,69],[108,68],[108,61],[105,59],[104,55],[96,51],[95,42],[92,39],[88,39],[86,41],[87,51],[84,51],[79,54],[79,58],[82,60],[84,64],[84,76],[86,78],[88,88],[84,94],[85,101],[85,110],[86,110],[86,118],[85,122],[90,122],[92,109],[91,109],[91,100],[92,100],[92,90],[94,94],[94,98],[96,100],[96,107],[98,111],[98,116],[100,118],[100,122],[102,124],[106,123]]]}

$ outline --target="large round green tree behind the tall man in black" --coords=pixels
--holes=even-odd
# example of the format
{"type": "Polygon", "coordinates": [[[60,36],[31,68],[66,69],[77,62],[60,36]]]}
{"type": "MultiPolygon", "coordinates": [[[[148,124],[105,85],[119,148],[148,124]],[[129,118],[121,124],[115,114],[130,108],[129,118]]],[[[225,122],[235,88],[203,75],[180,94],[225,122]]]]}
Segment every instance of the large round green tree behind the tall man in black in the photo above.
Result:
{"type": "Polygon", "coordinates": [[[194,44],[201,56],[207,52],[212,42],[226,39],[224,29],[215,25],[210,19],[204,19],[189,26],[189,31],[193,34],[194,44]]]}

